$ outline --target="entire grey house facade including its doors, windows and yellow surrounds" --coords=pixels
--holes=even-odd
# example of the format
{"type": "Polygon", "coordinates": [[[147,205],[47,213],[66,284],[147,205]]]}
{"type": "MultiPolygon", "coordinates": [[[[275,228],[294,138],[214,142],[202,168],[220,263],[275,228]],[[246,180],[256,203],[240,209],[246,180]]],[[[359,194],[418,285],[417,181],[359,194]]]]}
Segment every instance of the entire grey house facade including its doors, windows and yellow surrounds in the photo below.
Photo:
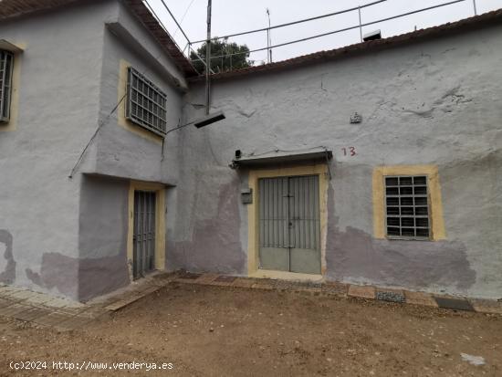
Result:
{"type": "Polygon", "coordinates": [[[213,75],[226,119],[165,135],[204,115],[204,80],[141,1],[3,3],[1,282],[86,300],[183,268],[502,296],[500,11],[213,75]]]}

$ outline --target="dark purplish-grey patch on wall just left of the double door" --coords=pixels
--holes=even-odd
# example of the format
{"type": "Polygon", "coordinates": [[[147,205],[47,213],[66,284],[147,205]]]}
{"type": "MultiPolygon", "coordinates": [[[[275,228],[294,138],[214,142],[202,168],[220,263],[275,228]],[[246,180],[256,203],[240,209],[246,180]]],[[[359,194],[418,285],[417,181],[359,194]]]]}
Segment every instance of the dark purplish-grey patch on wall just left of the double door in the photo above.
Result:
{"type": "Polygon", "coordinates": [[[221,187],[218,213],[208,220],[197,220],[192,241],[177,242],[168,263],[189,271],[243,274],[246,254],[240,241],[239,182],[221,187]]]}

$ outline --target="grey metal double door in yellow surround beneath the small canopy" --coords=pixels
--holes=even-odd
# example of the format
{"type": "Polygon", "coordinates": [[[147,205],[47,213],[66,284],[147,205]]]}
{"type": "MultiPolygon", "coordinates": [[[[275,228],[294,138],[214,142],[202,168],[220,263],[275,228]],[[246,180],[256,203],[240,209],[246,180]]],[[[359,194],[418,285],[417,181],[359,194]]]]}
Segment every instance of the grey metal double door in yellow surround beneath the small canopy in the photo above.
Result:
{"type": "Polygon", "coordinates": [[[259,180],[259,267],[320,274],[319,176],[259,180]]]}

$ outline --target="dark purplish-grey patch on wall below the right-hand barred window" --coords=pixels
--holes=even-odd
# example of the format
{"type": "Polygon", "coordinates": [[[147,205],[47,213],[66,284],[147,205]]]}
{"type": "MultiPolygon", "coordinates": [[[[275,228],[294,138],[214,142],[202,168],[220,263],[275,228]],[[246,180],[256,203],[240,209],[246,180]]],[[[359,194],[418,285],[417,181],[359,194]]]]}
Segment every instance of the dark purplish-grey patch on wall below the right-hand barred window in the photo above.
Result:
{"type": "Polygon", "coordinates": [[[476,283],[476,271],[458,241],[399,241],[375,239],[348,226],[338,227],[333,215],[334,192],[328,193],[327,276],[335,280],[384,286],[463,290],[476,283]]]}

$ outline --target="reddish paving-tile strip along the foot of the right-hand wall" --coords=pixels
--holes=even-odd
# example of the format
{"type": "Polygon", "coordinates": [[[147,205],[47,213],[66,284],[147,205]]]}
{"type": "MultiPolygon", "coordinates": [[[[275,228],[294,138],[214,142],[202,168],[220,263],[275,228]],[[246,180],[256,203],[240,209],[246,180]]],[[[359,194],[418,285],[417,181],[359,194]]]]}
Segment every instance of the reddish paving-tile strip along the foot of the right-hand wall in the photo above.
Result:
{"type": "Polygon", "coordinates": [[[288,290],[312,295],[364,298],[431,308],[502,315],[502,302],[496,300],[449,297],[404,289],[359,286],[332,281],[313,284],[267,278],[243,278],[230,277],[227,275],[192,273],[183,273],[172,281],[183,284],[198,284],[213,287],[288,290]]]}

